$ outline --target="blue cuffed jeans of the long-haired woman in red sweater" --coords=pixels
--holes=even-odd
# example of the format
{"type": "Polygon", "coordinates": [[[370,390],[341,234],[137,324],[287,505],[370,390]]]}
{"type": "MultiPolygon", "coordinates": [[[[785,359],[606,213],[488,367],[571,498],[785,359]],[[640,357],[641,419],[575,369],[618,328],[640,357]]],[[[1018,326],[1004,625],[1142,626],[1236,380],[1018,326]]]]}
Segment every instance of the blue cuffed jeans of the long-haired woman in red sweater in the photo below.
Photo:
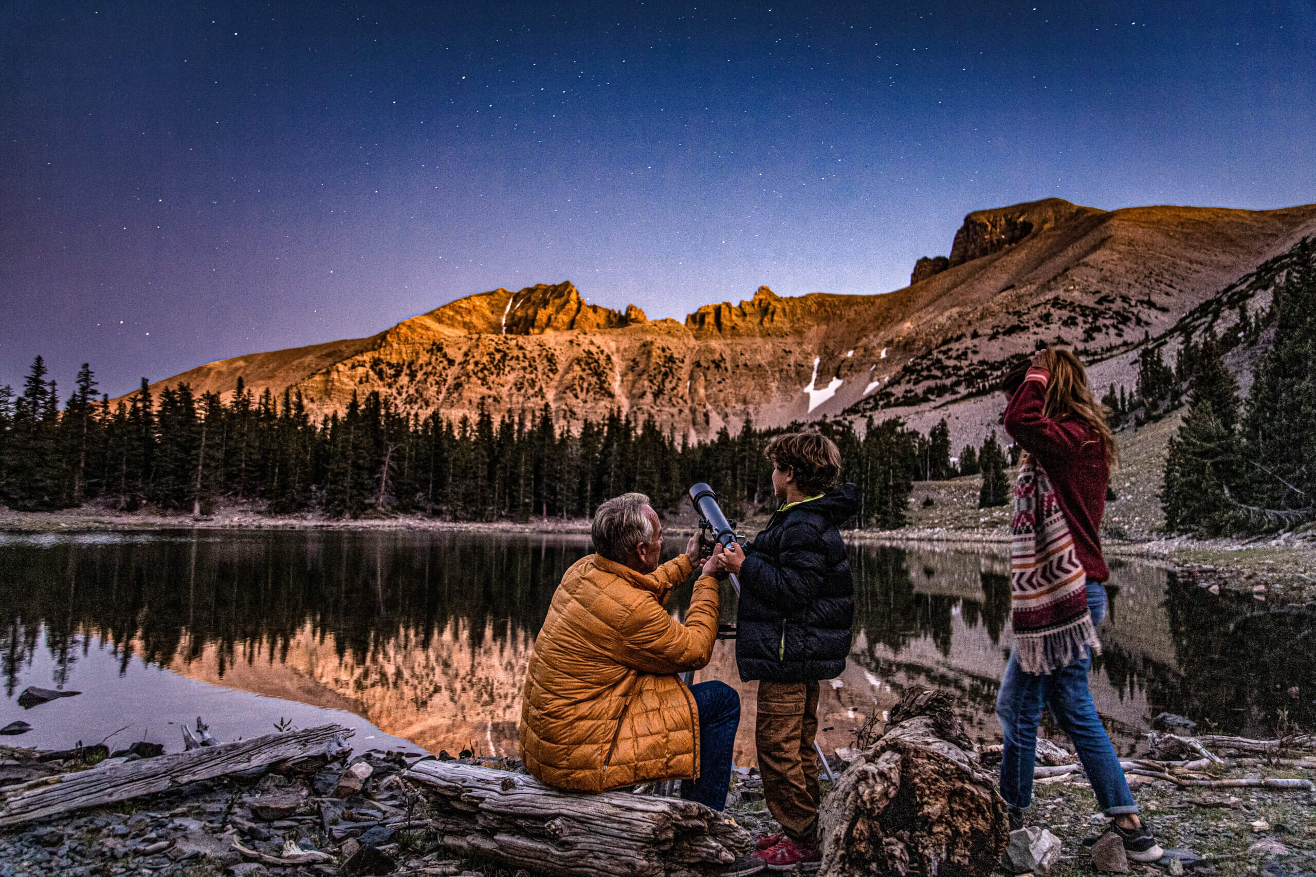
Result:
{"type": "MultiPolygon", "coordinates": [[[[1100,625],[1105,618],[1105,588],[1091,579],[1087,582],[1087,607],[1092,613],[1092,623],[1100,625]]],[[[1005,738],[1000,760],[1000,794],[1005,803],[1026,810],[1033,802],[1037,723],[1045,703],[1055,723],[1074,742],[1101,810],[1112,817],[1138,811],[1120,759],[1096,714],[1092,692],[1087,688],[1091,667],[1092,656],[1088,653],[1062,671],[1025,673],[1011,653],[996,696],[996,719],[1005,738]]]]}

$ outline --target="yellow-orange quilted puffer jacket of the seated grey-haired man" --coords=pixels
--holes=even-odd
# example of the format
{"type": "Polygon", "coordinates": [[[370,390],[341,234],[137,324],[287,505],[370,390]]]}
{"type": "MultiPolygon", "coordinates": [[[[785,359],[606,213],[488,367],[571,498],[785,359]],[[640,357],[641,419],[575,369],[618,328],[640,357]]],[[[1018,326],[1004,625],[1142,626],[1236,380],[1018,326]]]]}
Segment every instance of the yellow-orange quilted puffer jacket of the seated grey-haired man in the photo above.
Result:
{"type": "Polygon", "coordinates": [[[680,555],[645,576],[588,555],[553,594],[521,699],[521,757],[559,789],[605,792],[699,773],[699,711],[676,673],[708,663],[717,580],[700,576],[686,613],[663,606],[690,576],[680,555]]]}

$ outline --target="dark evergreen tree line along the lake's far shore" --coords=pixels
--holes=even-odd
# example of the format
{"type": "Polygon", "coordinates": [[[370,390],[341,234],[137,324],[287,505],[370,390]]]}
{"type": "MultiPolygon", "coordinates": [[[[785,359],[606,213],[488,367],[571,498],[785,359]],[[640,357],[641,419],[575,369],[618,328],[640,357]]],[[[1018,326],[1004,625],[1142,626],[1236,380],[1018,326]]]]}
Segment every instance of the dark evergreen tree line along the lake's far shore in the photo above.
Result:
{"type": "Polygon", "coordinates": [[[604,500],[638,490],[675,510],[690,485],[713,485],[730,515],[775,504],[767,440],[809,426],[841,448],[842,477],[861,488],[858,526],[907,522],[915,480],[988,472],[984,501],[1005,502],[1004,454],[995,435],[950,459],[950,430],[928,435],[891,418],[792,423],[691,443],[651,418],[613,412],[563,430],[544,406],[534,415],[480,412],[455,421],[407,415],[378,393],[313,418],[299,393],[259,394],[238,380],[229,401],[187,384],[154,393],[146,380],[111,405],[88,366],[59,406],[38,356],[13,394],[0,388],[0,500],[50,510],[96,500],[121,510],[145,504],[209,514],[217,500],[258,501],[267,511],[330,517],[424,513],[454,521],[590,517],[604,500]],[[992,463],[995,460],[995,463],[992,463]],[[979,468],[982,467],[982,469],[979,468]],[[1004,486],[1001,486],[1004,485],[1004,486]]]}

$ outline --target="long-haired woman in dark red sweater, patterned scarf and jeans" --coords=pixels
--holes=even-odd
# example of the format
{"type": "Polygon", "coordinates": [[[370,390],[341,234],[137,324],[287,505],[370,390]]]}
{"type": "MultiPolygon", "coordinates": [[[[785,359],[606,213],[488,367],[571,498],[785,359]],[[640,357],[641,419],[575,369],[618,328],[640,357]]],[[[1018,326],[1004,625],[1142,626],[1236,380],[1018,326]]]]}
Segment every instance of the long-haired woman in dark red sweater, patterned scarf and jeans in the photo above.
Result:
{"type": "MultiPolygon", "coordinates": [[[[1111,468],[1119,460],[1105,412],[1094,398],[1083,363],[1067,350],[1040,350],[1028,371],[1001,388],[1009,397],[1005,430],[1024,448],[1012,519],[1011,626],[1015,650],[996,697],[1004,735],[1000,792],[1011,828],[1023,827],[1033,798],[1033,759],[1042,706],[1065,730],[1101,810],[1107,831],[1134,861],[1163,851],[1138,819],[1087,686],[1096,626],[1105,618],[1109,576],[1100,527],[1111,468]]],[[[1091,839],[1092,841],[1096,838],[1091,839]]],[[[1087,843],[1087,841],[1084,841],[1087,843]]]]}

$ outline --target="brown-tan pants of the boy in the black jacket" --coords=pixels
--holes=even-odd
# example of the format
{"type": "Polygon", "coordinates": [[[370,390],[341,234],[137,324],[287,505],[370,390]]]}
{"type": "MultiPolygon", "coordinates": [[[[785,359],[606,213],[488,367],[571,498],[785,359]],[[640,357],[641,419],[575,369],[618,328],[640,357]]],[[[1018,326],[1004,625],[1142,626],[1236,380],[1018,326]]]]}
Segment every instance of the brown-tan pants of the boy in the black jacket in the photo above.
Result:
{"type": "Polygon", "coordinates": [[[754,746],[769,811],[792,840],[815,843],[819,815],[817,682],[758,684],[754,746]]]}

